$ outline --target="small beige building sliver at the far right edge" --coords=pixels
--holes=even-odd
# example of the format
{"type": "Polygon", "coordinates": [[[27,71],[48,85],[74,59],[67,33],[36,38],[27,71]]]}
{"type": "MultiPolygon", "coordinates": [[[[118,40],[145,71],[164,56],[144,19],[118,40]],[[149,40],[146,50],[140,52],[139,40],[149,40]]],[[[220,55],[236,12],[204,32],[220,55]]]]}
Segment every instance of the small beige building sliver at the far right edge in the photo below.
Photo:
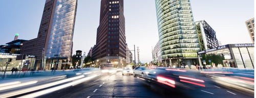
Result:
{"type": "Polygon", "coordinates": [[[254,18],[245,21],[245,24],[249,32],[251,42],[254,43],[254,18]]]}

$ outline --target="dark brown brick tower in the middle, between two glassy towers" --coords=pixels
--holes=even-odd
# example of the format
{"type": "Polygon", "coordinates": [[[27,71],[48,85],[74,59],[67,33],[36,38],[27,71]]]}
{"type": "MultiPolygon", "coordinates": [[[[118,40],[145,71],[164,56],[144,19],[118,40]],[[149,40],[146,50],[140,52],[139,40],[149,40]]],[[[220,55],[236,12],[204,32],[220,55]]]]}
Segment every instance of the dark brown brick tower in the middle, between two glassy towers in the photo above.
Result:
{"type": "Polygon", "coordinates": [[[97,64],[126,65],[123,0],[101,0],[100,21],[92,60],[97,64]]]}

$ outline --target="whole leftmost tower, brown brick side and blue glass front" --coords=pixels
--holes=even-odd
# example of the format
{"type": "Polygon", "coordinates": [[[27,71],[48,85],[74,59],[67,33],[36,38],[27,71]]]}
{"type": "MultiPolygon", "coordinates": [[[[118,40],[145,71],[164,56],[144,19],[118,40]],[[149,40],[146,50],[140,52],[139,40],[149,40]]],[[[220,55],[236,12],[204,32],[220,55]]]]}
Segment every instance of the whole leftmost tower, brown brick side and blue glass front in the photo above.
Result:
{"type": "Polygon", "coordinates": [[[76,9],[77,0],[46,0],[37,38],[22,47],[22,54],[37,56],[35,69],[68,67],[62,62],[71,59],[76,9]]]}

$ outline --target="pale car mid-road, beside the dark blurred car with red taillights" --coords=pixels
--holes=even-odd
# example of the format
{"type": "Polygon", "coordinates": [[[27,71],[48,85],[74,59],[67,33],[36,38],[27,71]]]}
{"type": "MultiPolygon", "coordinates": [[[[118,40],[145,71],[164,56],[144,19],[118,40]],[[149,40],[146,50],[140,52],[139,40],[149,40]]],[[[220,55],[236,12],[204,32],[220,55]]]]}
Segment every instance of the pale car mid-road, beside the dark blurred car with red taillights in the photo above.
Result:
{"type": "Polygon", "coordinates": [[[148,76],[150,74],[154,74],[154,71],[151,70],[150,68],[148,67],[145,67],[145,66],[138,66],[138,67],[135,67],[133,69],[133,76],[136,77],[136,76],[141,76],[143,77],[144,75],[145,76],[148,76]]]}

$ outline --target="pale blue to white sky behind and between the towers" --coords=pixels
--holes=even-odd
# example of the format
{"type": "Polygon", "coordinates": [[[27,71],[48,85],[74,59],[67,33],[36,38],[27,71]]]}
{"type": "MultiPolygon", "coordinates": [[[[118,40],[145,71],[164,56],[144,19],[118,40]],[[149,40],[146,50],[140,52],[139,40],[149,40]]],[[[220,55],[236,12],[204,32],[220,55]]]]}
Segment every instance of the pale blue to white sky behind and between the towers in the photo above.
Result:
{"type": "MultiPolygon", "coordinates": [[[[190,0],[194,20],[205,20],[216,32],[222,45],[252,43],[245,21],[254,17],[253,0],[190,0]]],[[[18,39],[37,37],[45,0],[8,0],[0,3],[0,45],[19,34],[18,39]]],[[[100,0],[78,0],[73,54],[88,54],[96,44],[100,0]]],[[[130,50],[136,50],[136,62],[152,61],[152,48],[158,42],[154,0],[124,0],[125,36],[130,50]]],[[[132,53],[134,53],[132,51],[132,53]]],[[[133,55],[134,59],[134,55],[133,55]]]]}

